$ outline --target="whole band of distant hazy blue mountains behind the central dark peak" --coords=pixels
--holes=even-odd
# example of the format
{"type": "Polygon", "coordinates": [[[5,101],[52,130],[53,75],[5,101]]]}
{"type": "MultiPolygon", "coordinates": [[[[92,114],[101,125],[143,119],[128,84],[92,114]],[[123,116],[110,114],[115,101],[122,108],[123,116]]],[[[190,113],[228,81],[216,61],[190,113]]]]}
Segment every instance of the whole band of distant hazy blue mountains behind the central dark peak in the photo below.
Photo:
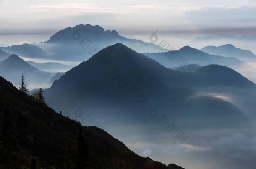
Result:
{"type": "MultiPolygon", "coordinates": [[[[240,38],[253,39],[253,37],[254,36],[241,36],[240,38]]],[[[208,39],[212,38],[214,37],[208,37],[208,39]]],[[[219,36],[218,38],[234,37],[219,36]]],[[[208,54],[207,52],[205,53],[189,46],[185,46],[176,51],[169,51],[161,48],[158,45],[155,45],[154,43],[145,43],[141,40],[125,38],[120,36],[115,30],[105,31],[104,28],[100,27],[99,25],[93,26],[90,24],[79,24],[75,27],[68,27],[60,30],[52,35],[46,42],[13,45],[11,47],[0,47],[0,49],[5,52],[20,55],[26,58],[42,58],[57,61],[80,62],[88,60],[99,50],[102,50],[103,48],[115,43],[122,43],[137,52],[145,53],[145,55],[155,59],[168,68],[181,66],[177,62],[177,59],[180,56],[185,59],[187,64],[198,64],[201,66],[219,64],[222,66],[235,68],[235,66],[241,65],[243,64],[243,61],[245,61],[242,59],[242,56],[240,57],[237,49],[235,49],[237,55],[232,55],[231,51],[229,55],[223,55],[222,52],[210,52],[210,54],[208,54]],[[222,57],[222,55],[228,56],[229,58],[222,57]],[[176,58],[176,56],[178,58],[176,58]]],[[[202,50],[206,51],[205,49],[202,50]]],[[[233,51],[233,53],[235,52],[233,51]]],[[[243,54],[250,55],[249,51],[243,51],[243,54]]],[[[37,68],[39,68],[39,66],[37,68]]],[[[46,69],[39,69],[46,71],[46,69]]],[[[57,72],[60,71],[61,70],[57,72]]]]}

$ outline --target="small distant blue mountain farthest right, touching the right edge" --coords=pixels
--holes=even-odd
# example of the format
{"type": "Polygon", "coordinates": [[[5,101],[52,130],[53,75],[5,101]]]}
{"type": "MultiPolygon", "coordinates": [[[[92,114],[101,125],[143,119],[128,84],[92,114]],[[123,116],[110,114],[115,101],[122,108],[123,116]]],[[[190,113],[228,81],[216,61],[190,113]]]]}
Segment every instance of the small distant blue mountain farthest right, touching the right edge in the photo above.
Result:
{"type": "Polygon", "coordinates": [[[222,55],[226,57],[235,57],[242,61],[256,61],[256,55],[254,55],[250,50],[243,50],[236,48],[231,44],[222,45],[222,46],[206,46],[201,49],[206,53],[212,55],[222,55]]]}

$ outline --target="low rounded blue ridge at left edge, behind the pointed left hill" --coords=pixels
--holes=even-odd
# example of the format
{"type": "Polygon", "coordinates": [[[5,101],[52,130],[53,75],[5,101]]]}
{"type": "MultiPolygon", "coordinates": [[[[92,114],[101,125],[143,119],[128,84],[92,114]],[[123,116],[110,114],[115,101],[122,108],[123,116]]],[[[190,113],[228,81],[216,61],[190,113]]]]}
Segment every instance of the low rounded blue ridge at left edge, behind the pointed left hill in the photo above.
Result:
{"type": "Polygon", "coordinates": [[[24,43],[22,45],[13,45],[8,47],[0,47],[5,52],[13,53],[27,58],[48,58],[47,52],[39,48],[37,45],[24,43]]]}

